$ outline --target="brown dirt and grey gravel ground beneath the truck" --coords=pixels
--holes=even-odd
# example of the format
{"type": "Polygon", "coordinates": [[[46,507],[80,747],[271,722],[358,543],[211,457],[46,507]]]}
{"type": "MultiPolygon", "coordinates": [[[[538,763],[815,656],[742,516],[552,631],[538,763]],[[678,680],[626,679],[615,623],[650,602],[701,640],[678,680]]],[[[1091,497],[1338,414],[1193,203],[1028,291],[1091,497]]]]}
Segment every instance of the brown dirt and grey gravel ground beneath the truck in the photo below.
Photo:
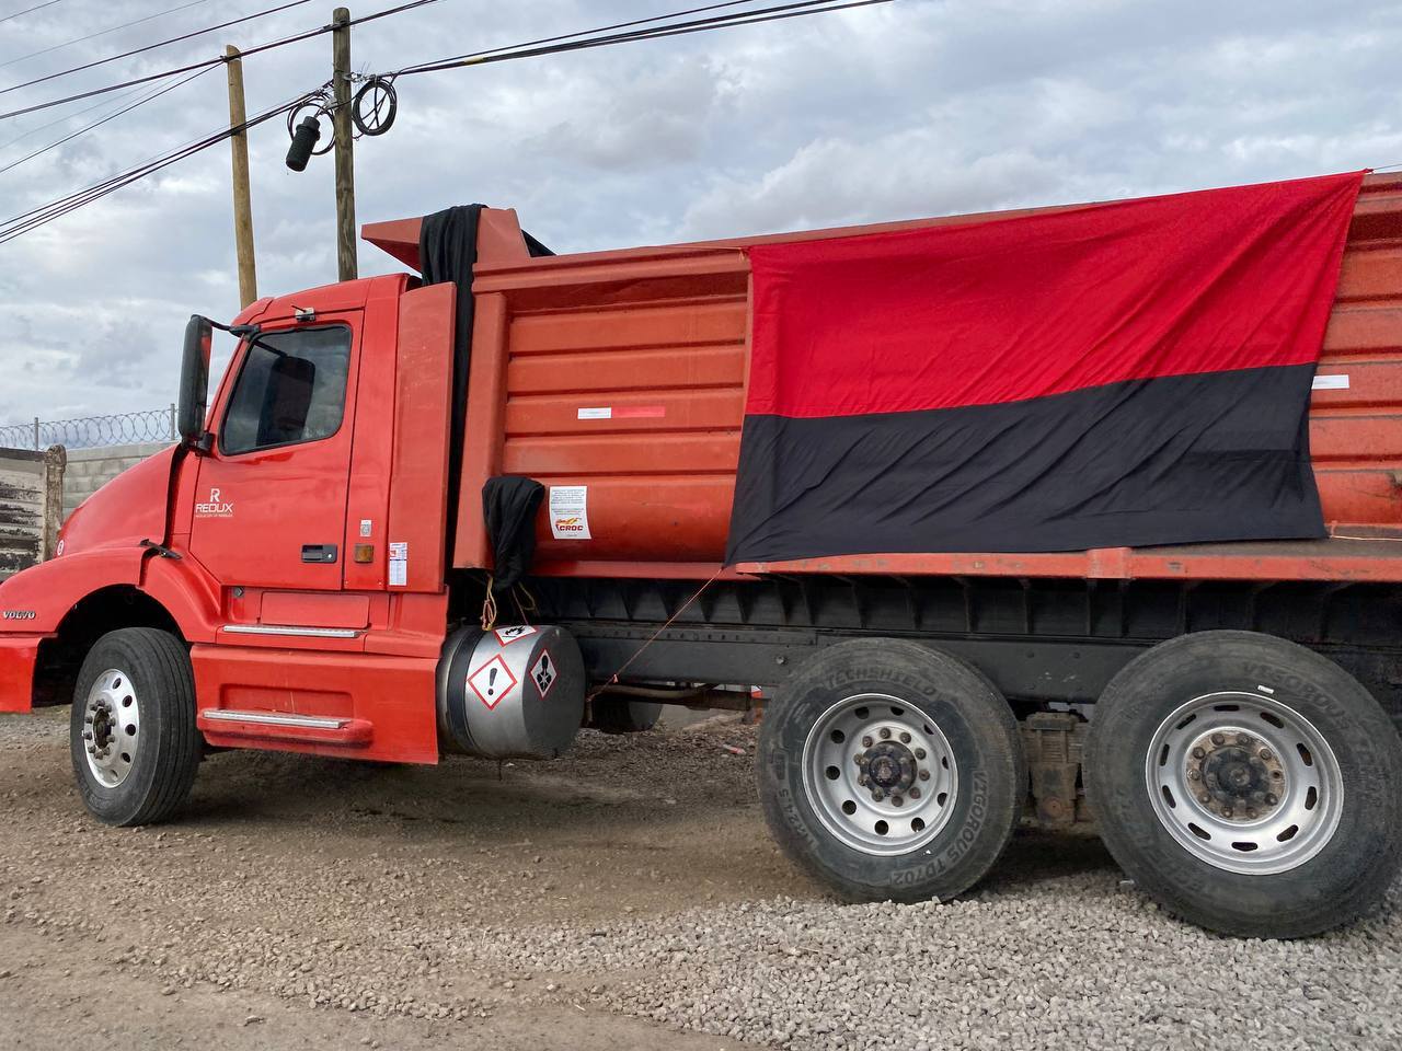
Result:
{"type": "Polygon", "coordinates": [[[0,716],[0,1045],[1402,1044],[1402,886],[1234,942],[1029,834],[969,900],[843,907],[770,844],[733,722],[547,767],[230,753],[178,823],[108,830],[66,716],[0,716]]]}

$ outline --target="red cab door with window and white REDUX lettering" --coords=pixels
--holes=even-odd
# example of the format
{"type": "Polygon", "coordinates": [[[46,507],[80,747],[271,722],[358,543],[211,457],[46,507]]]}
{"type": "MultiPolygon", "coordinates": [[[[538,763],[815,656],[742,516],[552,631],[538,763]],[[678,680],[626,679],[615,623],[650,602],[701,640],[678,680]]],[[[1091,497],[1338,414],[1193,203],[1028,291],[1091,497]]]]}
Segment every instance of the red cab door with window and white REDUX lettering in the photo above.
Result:
{"type": "Polygon", "coordinates": [[[244,350],[191,517],[191,554],[224,586],[341,587],[356,342],[332,315],[244,350]]]}

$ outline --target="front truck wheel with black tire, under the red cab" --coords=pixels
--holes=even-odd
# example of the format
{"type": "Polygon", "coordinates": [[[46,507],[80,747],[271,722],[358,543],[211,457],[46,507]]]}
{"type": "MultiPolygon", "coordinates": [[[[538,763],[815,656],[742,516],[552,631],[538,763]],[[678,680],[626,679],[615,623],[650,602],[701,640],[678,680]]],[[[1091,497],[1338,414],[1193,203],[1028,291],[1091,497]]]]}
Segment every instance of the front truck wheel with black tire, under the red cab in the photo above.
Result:
{"type": "Polygon", "coordinates": [[[69,733],[88,811],[109,825],[165,820],[195,783],[200,747],[185,646],[153,628],[98,639],[79,673],[69,733]]]}

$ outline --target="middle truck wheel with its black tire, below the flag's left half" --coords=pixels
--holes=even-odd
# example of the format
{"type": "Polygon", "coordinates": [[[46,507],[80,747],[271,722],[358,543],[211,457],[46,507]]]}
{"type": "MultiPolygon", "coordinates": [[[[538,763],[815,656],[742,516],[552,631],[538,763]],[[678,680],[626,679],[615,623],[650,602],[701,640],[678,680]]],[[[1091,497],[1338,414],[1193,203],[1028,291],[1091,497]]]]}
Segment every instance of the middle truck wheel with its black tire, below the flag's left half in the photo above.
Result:
{"type": "Polygon", "coordinates": [[[757,776],[780,846],[850,901],[969,890],[1008,845],[1026,789],[997,688],[894,639],[805,663],[765,710],[757,776]]]}

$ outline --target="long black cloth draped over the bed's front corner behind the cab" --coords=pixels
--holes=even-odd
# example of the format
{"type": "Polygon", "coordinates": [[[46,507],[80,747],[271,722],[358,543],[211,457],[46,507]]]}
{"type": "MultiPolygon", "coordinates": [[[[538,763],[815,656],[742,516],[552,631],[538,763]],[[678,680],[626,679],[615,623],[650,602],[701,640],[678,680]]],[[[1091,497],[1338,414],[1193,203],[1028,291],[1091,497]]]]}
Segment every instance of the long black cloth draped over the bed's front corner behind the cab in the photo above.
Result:
{"type": "Polygon", "coordinates": [[[477,221],[485,205],[454,205],[419,226],[419,273],[425,284],[457,284],[457,327],[453,334],[453,434],[447,450],[447,565],[457,538],[458,476],[463,471],[463,429],[467,422],[467,366],[472,353],[472,266],[477,265],[477,221]]]}

